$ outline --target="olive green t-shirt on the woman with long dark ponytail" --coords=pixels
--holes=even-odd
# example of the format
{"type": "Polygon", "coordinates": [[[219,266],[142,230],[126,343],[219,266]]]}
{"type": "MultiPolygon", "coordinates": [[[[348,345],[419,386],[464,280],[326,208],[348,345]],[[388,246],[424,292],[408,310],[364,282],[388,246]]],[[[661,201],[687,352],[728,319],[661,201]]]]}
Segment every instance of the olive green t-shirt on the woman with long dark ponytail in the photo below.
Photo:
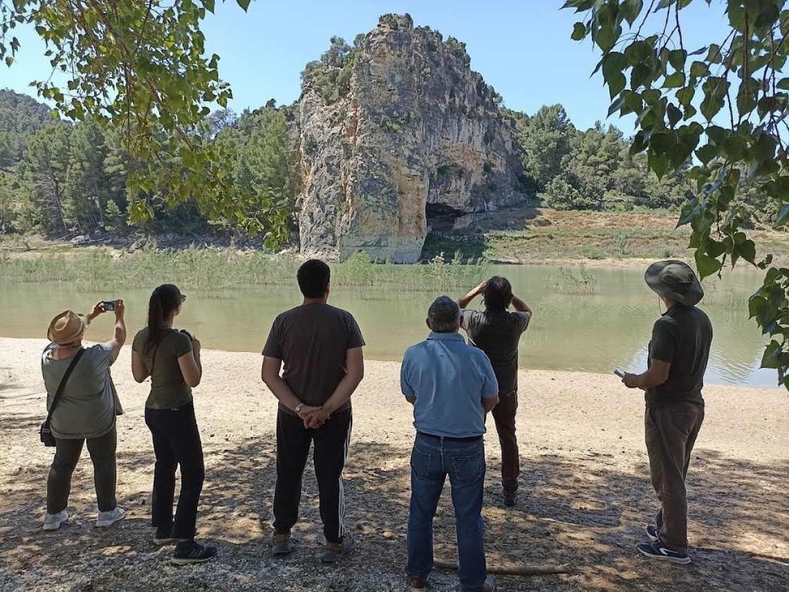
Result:
{"type": "Polygon", "coordinates": [[[188,335],[179,333],[169,327],[159,337],[159,346],[155,347],[153,359],[151,352],[145,352],[145,340],[148,338],[148,327],[134,336],[132,351],[137,352],[151,371],[151,393],[145,401],[149,409],[176,409],[192,402],[192,387],[184,382],[178,358],[192,351],[192,340],[188,335]]]}

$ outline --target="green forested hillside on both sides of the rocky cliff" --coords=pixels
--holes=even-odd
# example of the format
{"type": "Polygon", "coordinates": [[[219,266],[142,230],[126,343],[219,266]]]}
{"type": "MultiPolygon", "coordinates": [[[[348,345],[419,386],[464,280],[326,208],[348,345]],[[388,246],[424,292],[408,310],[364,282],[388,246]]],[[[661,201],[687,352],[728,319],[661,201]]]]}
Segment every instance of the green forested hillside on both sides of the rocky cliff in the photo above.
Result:
{"type": "MultiPolygon", "coordinates": [[[[332,47],[338,43],[344,42],[335,38],[332,47]]],[[[312,62],[311,71],[330,68],[328,59],[324,54],[321,63],[326,63],[312,62]]],[[[297,103],[278,108],[269,101],[240,116],[232,110],[217,111],[208,117],[204,132],[232,149],[232,186],[252,190],[261,204],[266,199],[282,200],[292,213],[301,182],[298,108],[297,103]]],[[[668,173],[658,181],[647,172],[643,155],[629,155],[630,141],[623,132],[600,123],[581,131],[561,105],[544,106],[531,115],[499,107],[499,117],[514,128],[525,188],[544,206],[677,210],[693,191],[685,171],[668,173]]],[[[99,126],[53,120],[47,106],[0,90],[3,233],[128,233],[133,227],[125,181],[134,166],[118,139],[105,135],[99,126]]],[[[775,209],[754,190],[742,195],[757,220],[768,222],[774,215],[775,209]]],[[[143,227],[148,232],[190,235],[238,228],[237,220],[204,217],[191,201],[171,205],[175,200],[161,192],[150,192],[144,199],[155,214],[143,227]]],[[[292,229],[294,224],[295,217],[290,221],[292,229]]]]}

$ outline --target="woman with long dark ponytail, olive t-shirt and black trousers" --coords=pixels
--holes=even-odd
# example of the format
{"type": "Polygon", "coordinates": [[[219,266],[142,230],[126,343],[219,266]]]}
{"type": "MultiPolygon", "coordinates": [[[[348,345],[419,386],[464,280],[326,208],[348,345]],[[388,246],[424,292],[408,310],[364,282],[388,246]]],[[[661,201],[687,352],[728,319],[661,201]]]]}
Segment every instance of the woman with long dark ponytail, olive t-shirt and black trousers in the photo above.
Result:
{"type": "Polygon", "coordinates": [[[203,489],[203,446],[197,429],[192,388],[200,384],[200,341],[173,328],[186,296],[172,284],[155,289],[148,301],[148,326],[134,337],[132,373],[136,382],[151,377],[145,401],[145,423],[156,456],[151,525],[157,545],[177,543],[172,562],[202,563],[216,548],[200,545],[196,534],[197,504],[203,489]],[[173,515],[175,471],[181,467],[181,491],[173,515]]]}

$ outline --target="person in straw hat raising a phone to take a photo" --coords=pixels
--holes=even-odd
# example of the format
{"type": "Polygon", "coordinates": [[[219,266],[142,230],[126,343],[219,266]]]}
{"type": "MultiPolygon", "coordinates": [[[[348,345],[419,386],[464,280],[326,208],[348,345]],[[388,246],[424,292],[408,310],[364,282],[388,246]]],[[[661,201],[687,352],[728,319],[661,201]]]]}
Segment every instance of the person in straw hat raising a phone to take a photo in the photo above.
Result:
{"type": "Polygon", "coordinates": [[[95,304],[87,316],[63,311],[52,319],[47,330],[50,344],[41,356],[41,371],[47,387],[47,410],[51,413],[50,430],[56,448],[47,478],[45,531],[56,531],[69,519],[65,508],[69,504],[71,476],[86,441],[99,502],[99,519],[95,526],[109,527],[125,516],[115,500],[118,442],[115,416],[121,415],[123,410],[110,375],[110,366],[118,359],[126,341],[123,300],[114,302],[112,340],[88,348],[82,345],[88,324],[104,311],[101,302],[95,304]],[[53,408],[58,391],[60,397],[53,408]]]}

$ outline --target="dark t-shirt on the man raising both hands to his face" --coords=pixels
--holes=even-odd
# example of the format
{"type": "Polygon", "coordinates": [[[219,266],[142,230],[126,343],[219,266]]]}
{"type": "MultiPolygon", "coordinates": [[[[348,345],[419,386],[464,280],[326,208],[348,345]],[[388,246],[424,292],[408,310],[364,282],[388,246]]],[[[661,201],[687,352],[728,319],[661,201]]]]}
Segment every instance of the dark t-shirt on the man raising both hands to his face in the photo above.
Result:
{"type": "Polygon", "coordinates": [[[462,327],[491,361],[499,395],[518,390],[518,342],[530,318],[528,312],[463,311],[462,327]]]}

